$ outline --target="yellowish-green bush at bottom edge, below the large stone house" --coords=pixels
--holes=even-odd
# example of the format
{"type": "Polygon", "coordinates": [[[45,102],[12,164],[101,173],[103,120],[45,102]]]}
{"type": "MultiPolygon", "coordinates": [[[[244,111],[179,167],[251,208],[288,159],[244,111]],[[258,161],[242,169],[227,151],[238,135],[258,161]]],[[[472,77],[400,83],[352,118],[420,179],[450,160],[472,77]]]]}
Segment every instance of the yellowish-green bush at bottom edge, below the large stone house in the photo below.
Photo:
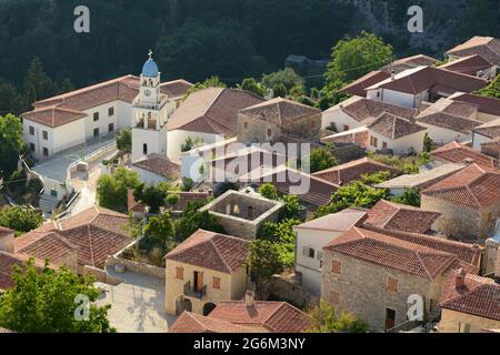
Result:
{"type": "Polygon", "coordinates": [[[321,300],[320,304],[309,311],[312,325],[307,333],[367,333],[368,325],[353,314],[338,314],[336,307],[321,300]]]}

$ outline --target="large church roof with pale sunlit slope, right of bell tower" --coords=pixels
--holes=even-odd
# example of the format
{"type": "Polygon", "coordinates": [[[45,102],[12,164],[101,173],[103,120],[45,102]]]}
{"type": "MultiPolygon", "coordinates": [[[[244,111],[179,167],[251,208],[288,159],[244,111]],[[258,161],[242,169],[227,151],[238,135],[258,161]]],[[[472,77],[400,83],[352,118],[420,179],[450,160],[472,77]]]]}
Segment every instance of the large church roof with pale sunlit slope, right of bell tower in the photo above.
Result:
{"type": "Polygon", "coordinates": [[[244,90],[209,88],[196,91],[172,114],[167,129],[236,135],[238,112],[263,101],[244,90]]]}

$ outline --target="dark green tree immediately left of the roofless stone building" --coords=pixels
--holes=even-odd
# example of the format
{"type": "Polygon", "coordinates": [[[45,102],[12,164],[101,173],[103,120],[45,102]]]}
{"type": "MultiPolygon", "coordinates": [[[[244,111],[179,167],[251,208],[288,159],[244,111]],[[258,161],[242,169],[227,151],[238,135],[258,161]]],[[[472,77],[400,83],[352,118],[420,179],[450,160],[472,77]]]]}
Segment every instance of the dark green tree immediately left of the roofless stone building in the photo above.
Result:
{"type": "Polygon", "coordinates": [[[181,243],[198,230],[206,230],[216,233],[226,233],[213,214],[208,211],[198,210],[206,205],[206,201],[188,203],[180,219],[176,222],[176,242],[181,243]]]}

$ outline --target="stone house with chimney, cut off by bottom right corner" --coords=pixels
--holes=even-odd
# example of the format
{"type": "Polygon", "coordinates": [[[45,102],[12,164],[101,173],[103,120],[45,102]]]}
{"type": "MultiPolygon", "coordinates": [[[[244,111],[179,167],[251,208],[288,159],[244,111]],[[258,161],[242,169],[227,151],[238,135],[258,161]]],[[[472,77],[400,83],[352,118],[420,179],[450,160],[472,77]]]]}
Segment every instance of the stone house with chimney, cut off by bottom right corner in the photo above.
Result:
{"type": "Polygon", "coordinates": [[[441,296],[441,333],[482,333],[500,329],[500,285],[493,280],[453,272],[441,296]]]}

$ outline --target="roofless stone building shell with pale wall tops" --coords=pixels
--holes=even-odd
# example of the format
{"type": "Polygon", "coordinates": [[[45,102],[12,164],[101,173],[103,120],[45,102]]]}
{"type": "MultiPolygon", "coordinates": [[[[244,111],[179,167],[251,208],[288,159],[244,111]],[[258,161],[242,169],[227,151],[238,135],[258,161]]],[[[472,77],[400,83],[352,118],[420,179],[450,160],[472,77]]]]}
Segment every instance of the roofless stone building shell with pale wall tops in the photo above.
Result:
{"type": "Polygon", "coordinates": [[[262,197],[258,193],[229,190],[200,209],[214,215],[224,231],[246,240],[258,236],[267,221],[277,221],[283,203],[262,197]]]}

